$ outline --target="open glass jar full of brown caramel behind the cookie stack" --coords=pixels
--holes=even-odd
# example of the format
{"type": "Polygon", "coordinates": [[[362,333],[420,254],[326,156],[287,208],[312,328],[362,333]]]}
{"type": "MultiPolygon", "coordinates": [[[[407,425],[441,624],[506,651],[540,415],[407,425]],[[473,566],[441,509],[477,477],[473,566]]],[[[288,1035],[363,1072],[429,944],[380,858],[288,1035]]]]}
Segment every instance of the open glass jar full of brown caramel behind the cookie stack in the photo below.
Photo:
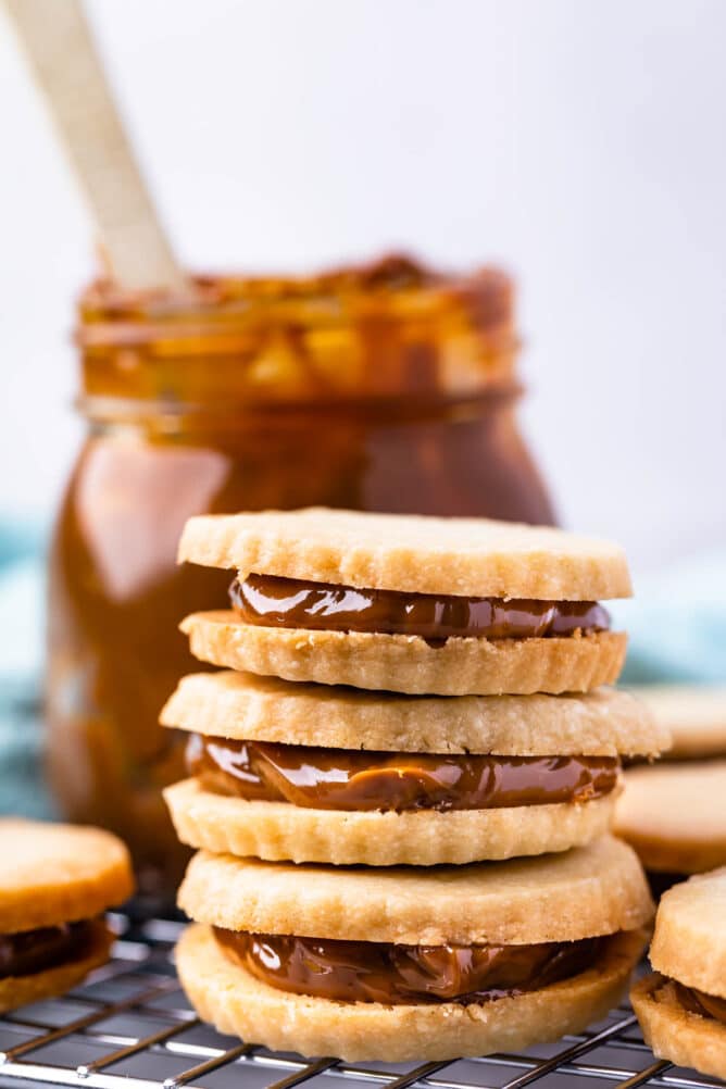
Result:
{"type": "Polygon", "coordinates": [[[130,845],[141,888],[184,861],[157,720],[202,666],[177,624],[231,574],[176,566],[185,521],[309,504],[552,523],[517,430],[513,285],[402,257],[313,279],[97,283],[79,304],[88,430],[49,577],[49,766],[65,815],[130,845]]]}

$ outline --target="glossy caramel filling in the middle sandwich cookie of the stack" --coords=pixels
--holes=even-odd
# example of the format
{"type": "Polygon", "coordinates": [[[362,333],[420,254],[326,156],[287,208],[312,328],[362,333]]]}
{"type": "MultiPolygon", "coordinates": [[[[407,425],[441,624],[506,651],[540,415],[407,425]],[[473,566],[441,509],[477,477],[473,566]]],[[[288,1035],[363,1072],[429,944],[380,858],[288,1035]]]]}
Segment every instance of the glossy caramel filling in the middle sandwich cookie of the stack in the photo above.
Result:
{"type": "Polygon", "coordinates": [[[368,752],[192,734],[186,763],[204,786],[312,809],[500,809],[588,802],[617,783],[619,761],[585,756],[368,752]]]}

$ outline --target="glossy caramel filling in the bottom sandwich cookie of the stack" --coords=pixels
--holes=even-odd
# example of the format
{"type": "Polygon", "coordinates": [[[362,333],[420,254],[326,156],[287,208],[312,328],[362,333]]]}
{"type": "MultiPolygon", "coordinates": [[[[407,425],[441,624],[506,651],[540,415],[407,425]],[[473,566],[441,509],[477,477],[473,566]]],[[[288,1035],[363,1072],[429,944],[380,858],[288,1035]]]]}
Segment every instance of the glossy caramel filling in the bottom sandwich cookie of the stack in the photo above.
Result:
{"type": "Polygon", "coordinates": [[[224,955],[282,991],[336,1002],[487,1002],[594,963],[603,939],[539,945],[393,945],[214,928],[224,955]]]}

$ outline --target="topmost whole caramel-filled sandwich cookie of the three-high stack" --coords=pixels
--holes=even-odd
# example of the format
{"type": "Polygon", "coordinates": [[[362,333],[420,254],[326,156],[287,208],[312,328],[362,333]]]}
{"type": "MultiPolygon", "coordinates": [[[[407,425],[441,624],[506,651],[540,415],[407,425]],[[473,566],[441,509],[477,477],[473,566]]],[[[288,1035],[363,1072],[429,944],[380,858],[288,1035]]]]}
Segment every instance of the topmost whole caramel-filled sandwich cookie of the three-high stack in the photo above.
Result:
{"type": "Polygon", "coordinates": [[[617,680],[629,597],[615,544],[473,518],[309,509],[190,518],[180,561],[235,568],[227,611],[182,624],[234,670],[439,694],[587,692],[617,680]]]}

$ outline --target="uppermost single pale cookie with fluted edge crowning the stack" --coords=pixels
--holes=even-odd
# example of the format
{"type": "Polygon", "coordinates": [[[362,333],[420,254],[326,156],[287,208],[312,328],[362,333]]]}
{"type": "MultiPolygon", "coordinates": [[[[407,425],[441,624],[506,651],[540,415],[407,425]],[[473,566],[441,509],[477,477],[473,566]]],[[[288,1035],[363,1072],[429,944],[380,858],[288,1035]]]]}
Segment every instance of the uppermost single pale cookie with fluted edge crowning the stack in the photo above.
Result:
{"type": "Polygon", "coordinates": [[[186,523],[179,560],[415,594],[595,601],[632,592],[617,544],[484,518],[318,507],[206,515],[186,523]]]}

